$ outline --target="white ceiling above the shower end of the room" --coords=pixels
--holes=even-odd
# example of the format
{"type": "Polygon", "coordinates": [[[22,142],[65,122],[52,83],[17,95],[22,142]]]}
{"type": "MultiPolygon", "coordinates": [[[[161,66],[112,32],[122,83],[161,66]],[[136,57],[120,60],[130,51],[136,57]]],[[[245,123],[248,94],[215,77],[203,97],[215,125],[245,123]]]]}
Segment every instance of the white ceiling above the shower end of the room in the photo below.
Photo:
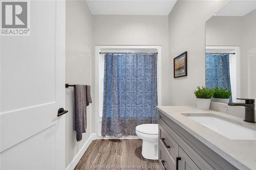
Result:
{"type": "Polygon", "coordinates": [[[94,15],[169,15],[176,0],[86,0],[94,15]]]}

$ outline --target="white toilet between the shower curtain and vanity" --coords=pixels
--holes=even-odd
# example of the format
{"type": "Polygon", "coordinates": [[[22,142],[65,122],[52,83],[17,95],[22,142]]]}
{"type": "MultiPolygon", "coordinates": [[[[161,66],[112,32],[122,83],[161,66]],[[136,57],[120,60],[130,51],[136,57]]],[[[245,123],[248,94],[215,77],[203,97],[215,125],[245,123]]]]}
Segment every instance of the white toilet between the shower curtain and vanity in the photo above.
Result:
{"type": "Polygon", "coordinates": [[[142,156],[158,159],[158,124],[142,124],[136,127],[136,134],[142,139],[142,156]]]}

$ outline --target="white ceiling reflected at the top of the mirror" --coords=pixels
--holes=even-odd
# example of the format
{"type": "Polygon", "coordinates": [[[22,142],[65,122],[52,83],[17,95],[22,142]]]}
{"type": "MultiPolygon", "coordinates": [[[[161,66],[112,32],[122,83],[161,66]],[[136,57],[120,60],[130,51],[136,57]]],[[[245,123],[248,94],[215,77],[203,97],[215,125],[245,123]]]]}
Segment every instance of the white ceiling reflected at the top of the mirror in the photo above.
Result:
{"type": "Polygon", "coordinates": [[[216,16],[244,16],[256,9],[256,1],[230,1],[216,16]]]}

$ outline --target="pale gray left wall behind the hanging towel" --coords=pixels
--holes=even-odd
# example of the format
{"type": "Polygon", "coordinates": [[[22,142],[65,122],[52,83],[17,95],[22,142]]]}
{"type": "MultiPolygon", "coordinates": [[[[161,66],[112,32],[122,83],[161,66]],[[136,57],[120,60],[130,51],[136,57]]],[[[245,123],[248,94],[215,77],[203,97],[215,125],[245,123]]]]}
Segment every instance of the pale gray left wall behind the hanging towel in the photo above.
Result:
{"type": "MultiPolygon", "coordinates": [[[[66,83],[91,85],[92,14],[86,1],[66,1],[66,83]]],[[[87,107],[87,132],[76,141],[73,131],[73,87],[66,89],[66,166],[94,131],[93,104],[87,107]]],[[[94,93],[92,91],[92,93],[94,93]]]]}

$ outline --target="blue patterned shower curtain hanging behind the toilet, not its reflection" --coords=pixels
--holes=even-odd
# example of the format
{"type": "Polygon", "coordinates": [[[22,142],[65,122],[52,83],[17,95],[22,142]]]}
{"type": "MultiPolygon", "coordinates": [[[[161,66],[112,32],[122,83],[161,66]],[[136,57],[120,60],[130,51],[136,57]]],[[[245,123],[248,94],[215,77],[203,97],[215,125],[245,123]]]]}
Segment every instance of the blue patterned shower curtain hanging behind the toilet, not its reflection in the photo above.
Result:
{"type": "Polygon", "coordinates": [[[156,54],[105,54],[102,136],[134,136],[157,123],[156,54]]]}

